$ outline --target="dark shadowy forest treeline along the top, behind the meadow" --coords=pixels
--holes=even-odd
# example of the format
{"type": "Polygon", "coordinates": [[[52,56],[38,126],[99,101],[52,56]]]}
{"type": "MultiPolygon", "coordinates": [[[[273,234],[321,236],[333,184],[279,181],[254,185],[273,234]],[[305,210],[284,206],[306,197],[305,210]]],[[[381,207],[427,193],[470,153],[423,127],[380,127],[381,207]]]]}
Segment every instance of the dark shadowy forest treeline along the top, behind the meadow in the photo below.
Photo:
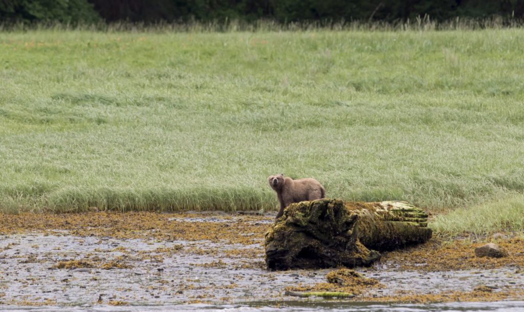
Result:
{"type": "Polygon", "coordinates": [[[2,23],[393,22],[425,15],[437,21],[493,16],[522,19],[524,0],[0,0],[2,23]]]}

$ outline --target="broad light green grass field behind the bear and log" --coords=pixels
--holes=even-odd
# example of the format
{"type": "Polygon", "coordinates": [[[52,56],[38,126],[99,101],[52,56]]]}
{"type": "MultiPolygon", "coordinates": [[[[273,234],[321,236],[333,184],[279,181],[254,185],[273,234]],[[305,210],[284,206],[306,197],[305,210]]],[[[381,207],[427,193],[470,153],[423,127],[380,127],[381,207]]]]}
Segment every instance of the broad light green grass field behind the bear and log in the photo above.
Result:
{"type": "Polygon", "coordinates": [[[0,32],[0,209],[272,209],[281,172],[435,213],[514,203],[523,50],[520,28],[0,32]]]}

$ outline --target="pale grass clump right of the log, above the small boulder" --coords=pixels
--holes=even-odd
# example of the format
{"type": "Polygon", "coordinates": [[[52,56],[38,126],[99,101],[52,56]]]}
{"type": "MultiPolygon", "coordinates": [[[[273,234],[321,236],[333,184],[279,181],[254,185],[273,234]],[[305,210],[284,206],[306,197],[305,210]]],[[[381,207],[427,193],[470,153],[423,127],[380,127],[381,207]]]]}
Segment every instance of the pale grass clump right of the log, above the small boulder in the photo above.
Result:
{"type": "Polygon", "coordinates": [[[454,209],[436,216],[430,227],[437,232],[452,236],[461,233],[489,235],[496,231],[522,231],[524,195],[454,209]]]}

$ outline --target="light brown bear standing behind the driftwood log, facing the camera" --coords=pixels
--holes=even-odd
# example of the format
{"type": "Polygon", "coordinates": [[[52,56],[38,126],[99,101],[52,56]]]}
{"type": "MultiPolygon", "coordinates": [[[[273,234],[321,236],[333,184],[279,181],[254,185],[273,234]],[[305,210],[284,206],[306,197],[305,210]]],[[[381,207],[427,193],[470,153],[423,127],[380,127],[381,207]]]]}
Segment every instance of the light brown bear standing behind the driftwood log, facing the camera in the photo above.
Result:
{"type": "Polygon", "coordinates": [[[305,178],[291,180],[283,174],[271,175],[267,181],[275,192],[277,192],[278,201],[280,202],[280,211],[277,219],[284,214],[284,208],[291,203],[302,202],[303,200],[315,200],[325,197],[326,191],[322,184],[315,179],[305,178]]]}

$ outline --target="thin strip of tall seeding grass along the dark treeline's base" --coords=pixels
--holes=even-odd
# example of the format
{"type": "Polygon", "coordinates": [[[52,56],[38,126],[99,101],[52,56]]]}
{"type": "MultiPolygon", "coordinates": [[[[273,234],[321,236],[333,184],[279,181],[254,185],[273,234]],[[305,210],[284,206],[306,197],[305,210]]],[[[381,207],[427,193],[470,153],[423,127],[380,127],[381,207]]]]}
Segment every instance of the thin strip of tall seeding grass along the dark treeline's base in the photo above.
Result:
{"type": "Polygon", "coordinates": [[[515,17],[493,16],[489,18],[456,17],[436,21],[429,15],[396,21],[364,20],[314,20],[279,23],[272,19],[245,21],[241,19],[224,19],[210,22],[196,20],[183,23],[75,23],[61,24],[56,22],[0,24],[0,31],[93,31],[93,32],[277,32],[277,31],[434,31],[434,30],[479,30],[522,28],[524,21],[515,17]]]}

